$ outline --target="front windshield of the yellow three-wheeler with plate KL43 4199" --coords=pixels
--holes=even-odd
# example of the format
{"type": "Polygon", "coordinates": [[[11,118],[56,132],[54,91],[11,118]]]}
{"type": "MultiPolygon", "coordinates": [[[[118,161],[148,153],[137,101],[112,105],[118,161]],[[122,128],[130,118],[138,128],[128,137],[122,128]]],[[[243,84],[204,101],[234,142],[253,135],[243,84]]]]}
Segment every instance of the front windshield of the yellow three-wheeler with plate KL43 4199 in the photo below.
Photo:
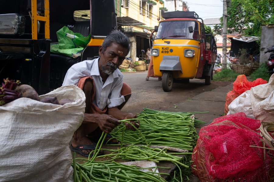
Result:
{"type": "Polygon", "coordinates": [[[164,21],[159,24],[155,39],[199,39],[196,21],[164,21]],[[191,33],[189,27],[192,26],[191,33]]]}

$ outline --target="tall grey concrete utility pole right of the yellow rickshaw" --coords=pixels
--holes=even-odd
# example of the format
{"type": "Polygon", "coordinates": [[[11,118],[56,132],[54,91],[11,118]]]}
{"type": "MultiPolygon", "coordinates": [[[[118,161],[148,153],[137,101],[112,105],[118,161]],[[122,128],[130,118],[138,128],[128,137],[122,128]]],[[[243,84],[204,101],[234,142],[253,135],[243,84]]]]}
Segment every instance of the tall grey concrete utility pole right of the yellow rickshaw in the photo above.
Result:
{"type": "Polygon", "coordinates": [[[223,0],[223,61],[222,70],[227,68],[227,0],[223,0]]]}

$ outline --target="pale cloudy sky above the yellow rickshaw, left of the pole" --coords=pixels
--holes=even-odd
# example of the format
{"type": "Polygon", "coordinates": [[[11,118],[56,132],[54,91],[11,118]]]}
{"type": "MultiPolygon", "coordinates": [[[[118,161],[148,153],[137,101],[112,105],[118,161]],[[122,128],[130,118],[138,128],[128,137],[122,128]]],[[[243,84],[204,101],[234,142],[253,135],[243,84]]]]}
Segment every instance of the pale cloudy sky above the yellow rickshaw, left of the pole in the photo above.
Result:
{"type": "Polygon", "coordinates": [[[223,15],[221,0],[184,0],[189,11],[195,11],[202,19],[220,18],[223,15]]]}

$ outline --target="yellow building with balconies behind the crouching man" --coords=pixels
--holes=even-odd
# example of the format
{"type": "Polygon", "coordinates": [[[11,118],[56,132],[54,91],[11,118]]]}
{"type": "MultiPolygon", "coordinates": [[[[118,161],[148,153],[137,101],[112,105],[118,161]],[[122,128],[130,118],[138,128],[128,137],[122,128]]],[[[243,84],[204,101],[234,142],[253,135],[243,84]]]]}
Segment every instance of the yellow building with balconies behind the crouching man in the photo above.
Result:
{"type": "MultiPolygon", "coordinates": [[[[118,30],[123,31],[131,41],[127,57],[142,58],[142,50],[151,48],[150,30],[158,25],[162,12],[167,11],[162,0],[115,0],[118,30]]],[[[143,54],[145,55],[145,53],[143,54]]]]}

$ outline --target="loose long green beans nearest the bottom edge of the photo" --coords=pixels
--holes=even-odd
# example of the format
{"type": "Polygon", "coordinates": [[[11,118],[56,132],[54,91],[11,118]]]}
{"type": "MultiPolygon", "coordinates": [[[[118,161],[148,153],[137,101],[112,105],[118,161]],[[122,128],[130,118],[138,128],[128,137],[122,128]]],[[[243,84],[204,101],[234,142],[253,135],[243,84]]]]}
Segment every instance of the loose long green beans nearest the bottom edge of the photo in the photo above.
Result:
{"type": "Polygon", "coordinates": [[[106,138],[106,133],[103,133],[99,139],[95,150],[93,151],[94,155],[88,159],[80,159],[85,162],[80,164],[76,162],[75,153],[73,154],[73,178],[74,181],[155,181],[155,182],[165,182],[160,174],[169,175],[167,173],[156,173],[149,168],[140,168],[136,165],[125,165],[121,163],[106,162],[103,163],[95,162],[94,159],[97,157],[104,139],[106,138]],[[100,147],[99,147],[100,144],[100,147]],[[141,171],[140,169],[149,169],[151,171],[141,171]],[[156,174],[156,175],[155,175],[156,174]]]}

